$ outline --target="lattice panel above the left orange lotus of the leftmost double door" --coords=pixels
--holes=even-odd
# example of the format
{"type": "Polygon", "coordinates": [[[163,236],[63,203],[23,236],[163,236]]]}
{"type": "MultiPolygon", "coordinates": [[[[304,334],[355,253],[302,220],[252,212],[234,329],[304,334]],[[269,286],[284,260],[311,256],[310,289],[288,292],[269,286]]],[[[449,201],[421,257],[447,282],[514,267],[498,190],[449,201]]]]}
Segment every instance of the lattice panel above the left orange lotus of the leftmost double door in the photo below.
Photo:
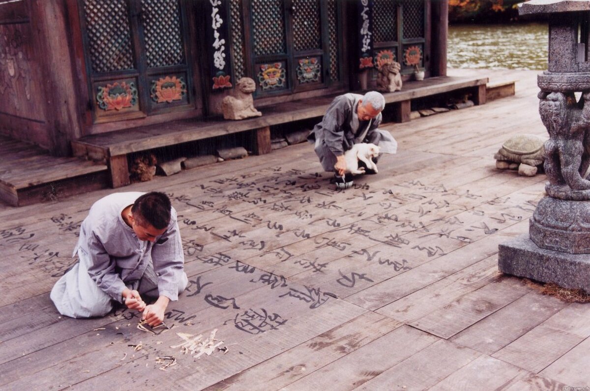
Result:
{"type": "Polygon", "coordinates": [[[126,0],[84,0],[94,73],[134,69],[126,0]]]}

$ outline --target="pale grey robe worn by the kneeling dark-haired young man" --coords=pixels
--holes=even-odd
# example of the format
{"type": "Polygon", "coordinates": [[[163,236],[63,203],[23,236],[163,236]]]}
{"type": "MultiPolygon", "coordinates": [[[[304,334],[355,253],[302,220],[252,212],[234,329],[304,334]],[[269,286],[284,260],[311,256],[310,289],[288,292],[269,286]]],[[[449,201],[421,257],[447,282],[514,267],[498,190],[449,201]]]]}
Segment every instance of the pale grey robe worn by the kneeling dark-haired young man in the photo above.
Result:
{"type": "Polygon", "coordinates": [[[96,201],[80,227],[74,256],[80,262],[51,290],[60,314],[73,318],[106,315],[123,289],[178,300],[188,283],[182,240],[172,208],[170,224],[154,243],[139,240],[121,216],[143,193],[115,193],[96,201]]]}

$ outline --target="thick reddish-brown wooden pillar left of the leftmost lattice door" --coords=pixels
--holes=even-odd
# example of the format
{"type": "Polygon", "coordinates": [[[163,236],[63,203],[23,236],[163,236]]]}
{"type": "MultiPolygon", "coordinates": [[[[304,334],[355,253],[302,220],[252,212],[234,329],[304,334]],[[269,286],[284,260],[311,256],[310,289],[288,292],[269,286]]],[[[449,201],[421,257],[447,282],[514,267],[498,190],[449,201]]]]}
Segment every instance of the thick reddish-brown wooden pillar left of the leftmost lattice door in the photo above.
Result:
{"type": "Polygon", "coordinates": [[[32,0],[31,27],[41,66],[47,107],[46,129],[53,155],[71,154],[70,141],[80,138],[77,88],[71,63],[67,7],[64,0],[32,0]]]}

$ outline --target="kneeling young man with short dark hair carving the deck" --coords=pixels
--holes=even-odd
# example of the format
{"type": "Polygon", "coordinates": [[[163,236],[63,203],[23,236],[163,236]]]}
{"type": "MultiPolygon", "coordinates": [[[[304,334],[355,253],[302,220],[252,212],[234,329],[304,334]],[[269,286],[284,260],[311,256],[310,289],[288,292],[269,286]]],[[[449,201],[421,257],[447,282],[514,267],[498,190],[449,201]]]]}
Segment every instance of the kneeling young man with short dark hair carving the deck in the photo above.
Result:
{"type": "Polygon", "coordinates": [[[176,211],[163,193],[114,193],[96,201],[76,253],[79,262],[51,289],[55,307],[68,317],[100,317],[116,301],[156,326],[188,284],[176,211]],[[146,305],[143,297],[156,301],[146,305]]]}

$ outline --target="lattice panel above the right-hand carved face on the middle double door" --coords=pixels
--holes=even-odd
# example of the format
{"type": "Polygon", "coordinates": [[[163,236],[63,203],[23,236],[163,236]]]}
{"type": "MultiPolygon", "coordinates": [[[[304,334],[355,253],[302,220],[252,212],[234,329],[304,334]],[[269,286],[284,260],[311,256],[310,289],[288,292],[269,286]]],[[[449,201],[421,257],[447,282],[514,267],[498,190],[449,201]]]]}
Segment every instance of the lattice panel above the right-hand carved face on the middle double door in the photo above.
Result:
{"type": "Polygon", "coordinates": [[[322,48],[319,0],[293,0],[293,48],[304,51],[322,48]]]}

